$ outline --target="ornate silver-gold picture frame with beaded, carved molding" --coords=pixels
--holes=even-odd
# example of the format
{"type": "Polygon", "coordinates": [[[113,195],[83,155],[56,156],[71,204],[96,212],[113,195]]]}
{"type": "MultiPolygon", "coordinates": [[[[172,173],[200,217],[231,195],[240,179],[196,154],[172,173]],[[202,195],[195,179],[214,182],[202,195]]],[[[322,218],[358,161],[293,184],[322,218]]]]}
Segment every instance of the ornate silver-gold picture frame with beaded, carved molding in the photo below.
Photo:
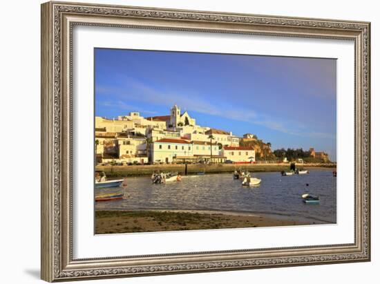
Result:
{"type": "MultiPolygon", "coordinates": [[[[41,5],[41,278],[149,276],[370,261],[370,23],[48,2],[41,5]],[[98,26],[354,42],[354,242],[73,258],[73,28],[98,26]]],[[[142,236],[143,238],[143,236],[142,236]]]]}

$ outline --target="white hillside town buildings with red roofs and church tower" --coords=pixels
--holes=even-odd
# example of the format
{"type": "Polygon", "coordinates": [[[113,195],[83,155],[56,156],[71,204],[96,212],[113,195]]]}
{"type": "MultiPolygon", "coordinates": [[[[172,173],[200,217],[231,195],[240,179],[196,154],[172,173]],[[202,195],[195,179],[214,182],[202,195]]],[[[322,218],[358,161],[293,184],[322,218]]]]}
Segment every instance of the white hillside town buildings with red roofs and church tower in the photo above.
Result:
{"type": "MultiPolygon", "coordinates": [[[[131,112],[113,119],[95,117],[97,163],[255,163],[276,158],[270,146],[251,133],[238,137],[231,131],[200,126],[177,105],[170,115],[142,117],[131,112]]],[[[309,153],[328,161],[327,153],[312,148],[309,153]]],[[[286,156],[281,159],[285,162],[286,156]]]]}

